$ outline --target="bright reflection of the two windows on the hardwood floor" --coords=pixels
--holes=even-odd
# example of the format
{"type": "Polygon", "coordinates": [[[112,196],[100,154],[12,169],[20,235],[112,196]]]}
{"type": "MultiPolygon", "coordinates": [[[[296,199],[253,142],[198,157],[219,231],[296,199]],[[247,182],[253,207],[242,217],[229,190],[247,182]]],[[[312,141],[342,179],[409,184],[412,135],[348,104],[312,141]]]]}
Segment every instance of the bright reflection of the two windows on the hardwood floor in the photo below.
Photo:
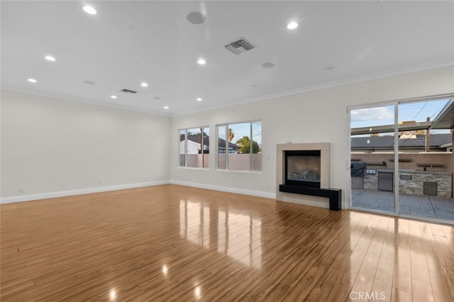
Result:
{"type": "Polygon", "coordinates": [[[180,200],[179,236],[242,265],[262,265],[262,222],[250,214],[180,200]]]}

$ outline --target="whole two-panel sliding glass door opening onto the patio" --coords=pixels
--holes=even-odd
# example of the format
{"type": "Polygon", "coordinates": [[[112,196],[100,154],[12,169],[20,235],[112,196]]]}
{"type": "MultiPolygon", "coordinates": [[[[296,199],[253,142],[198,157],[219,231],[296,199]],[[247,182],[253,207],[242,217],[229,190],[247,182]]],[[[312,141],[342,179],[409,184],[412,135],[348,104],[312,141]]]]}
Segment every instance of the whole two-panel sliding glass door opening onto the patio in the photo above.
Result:
{"type": "Polygon", "coordinates": [[[350,207],[454,222],[454,97],[350,108],[350,207]]]}

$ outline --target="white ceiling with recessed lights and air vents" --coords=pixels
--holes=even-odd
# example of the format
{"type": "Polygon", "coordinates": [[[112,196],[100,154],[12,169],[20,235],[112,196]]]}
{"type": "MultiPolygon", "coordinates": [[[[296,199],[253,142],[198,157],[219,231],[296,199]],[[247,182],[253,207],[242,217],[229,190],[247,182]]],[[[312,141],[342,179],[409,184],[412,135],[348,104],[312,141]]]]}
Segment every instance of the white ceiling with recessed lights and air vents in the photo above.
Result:
{"type": "Polygon", "coordinates": [[[2,88],[162,115],[450,64],[454,1],[1,1],[2,88]]]}

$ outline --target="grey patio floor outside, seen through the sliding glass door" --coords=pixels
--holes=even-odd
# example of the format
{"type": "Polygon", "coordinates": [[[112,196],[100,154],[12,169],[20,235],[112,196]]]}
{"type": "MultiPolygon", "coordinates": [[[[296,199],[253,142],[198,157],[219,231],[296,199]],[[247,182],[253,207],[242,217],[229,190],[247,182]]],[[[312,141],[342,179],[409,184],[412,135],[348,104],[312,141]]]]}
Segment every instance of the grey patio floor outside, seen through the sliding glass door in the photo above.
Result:
{"type": "MultiPolygon", "coordinates": [[[[352,189],[352,207],[394,213],[394,192],[352,189]]],[[[399,194],[399,213],[454,221],[454,199],[399,194]]]]}

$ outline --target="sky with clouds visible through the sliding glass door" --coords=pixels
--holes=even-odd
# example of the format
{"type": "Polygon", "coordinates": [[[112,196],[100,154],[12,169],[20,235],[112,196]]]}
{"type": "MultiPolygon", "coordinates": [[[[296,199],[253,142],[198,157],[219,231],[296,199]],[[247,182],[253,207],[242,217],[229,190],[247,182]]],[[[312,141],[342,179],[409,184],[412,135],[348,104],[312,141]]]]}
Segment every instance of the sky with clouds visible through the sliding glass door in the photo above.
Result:
{"type": "MultiPolygon", "coordinates": [[[[430,117],[431,121],[433,121],[450,101],[453,100],[445,98],[441,100],[424,100],[416,103],[401,103],[398,107],[399,122],[426,122],[427,117],[430,117]]],[[[388,124],[394,124],[394,105],[351,110],[352,128],[382,126],[388,124]]],[[[441,133],[440,130],[433,131],[441,133]]]]}

